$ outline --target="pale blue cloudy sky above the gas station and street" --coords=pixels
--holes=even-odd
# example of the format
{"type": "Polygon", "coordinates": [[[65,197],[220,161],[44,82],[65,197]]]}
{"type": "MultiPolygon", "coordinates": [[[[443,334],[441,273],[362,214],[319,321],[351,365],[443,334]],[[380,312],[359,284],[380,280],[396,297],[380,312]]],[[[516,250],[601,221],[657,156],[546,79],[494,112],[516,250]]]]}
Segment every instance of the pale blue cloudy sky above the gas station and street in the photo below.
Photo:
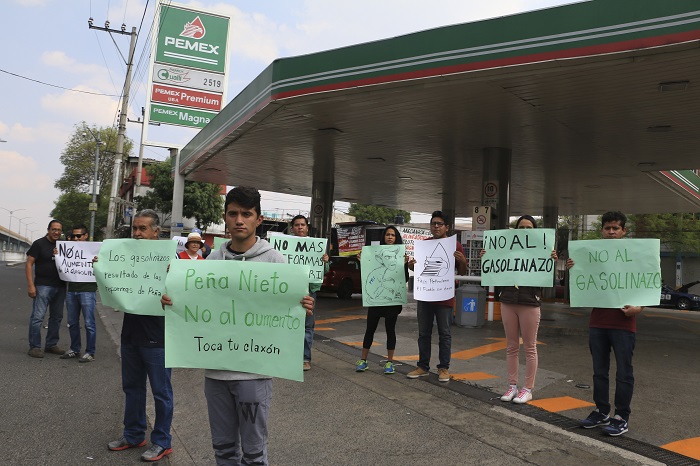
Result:
{"type": "MultiPolygon", "coordinates": [[[[319,52],[451,24],[572,3],[564,0],[227,0],[180,1],[231,17],[232,100],[276,58],[319,52]]],[[[0,225],[34,240],[46,233],[60,192],[59,157],[75,127],[116,126],[126,76],[129,36],[88,28],[110,21],[139,31],[128,118],[141,115],[147,98],[149,33],[156,0],[2,0],[0,28],[0,225]],[[10,213],[12,212],[12,214],[10,213]],[[10,220],[10,217],[12,219],[10,220]],[[12,224],[10,225],[10,222],[12,224]],[[21,230],[20,230],[21,228],[21,230]]],[[[141,125],[126,135],[140,140],[141,125]]],[[[150,140],[185,145],[195,130],[149,127],[150,140]]],[[[138,149],[136,149],[138,150],[138,149]]],[[[136,152],[137,154],[138,152],[136,152]]],[[[164,160],[146,147],[144,157],[164,160]]],[[[308,211],[305,197],[263,192],[265,211],[308,211]]],[[[336,202],[347,211],[349,205],[336,202]]],[[[429,215],[413,213],[412,221],[429,215]]]]}

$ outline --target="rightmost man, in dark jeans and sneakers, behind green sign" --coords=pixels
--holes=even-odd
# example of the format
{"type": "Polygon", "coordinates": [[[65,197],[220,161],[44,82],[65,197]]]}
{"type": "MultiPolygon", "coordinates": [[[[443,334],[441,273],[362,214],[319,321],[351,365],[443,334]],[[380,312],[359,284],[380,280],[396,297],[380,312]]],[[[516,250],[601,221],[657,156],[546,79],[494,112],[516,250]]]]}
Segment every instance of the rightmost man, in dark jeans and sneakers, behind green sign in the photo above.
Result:
{"type": "MultiPolygon", "coordinates": [[[[622,212],[603,214],[603,239],[623,238],[627,233],[626,222],[627,217],[622,212]]],[[[567,259],[566,268],[574,266],[573,259],[567,259]]],[[[591,311],[588,345],[593,359],[593,401],[596,409],[580,422],[581,427],[590,429],[605,426],[603,432],[612,436],[622,435],[629,430],[630,404],[634,392],[632,355],[636,344],[636,316],[642,309],[641,306],[625,305],[622,308],[594,308],[591,311]],[[614,417],[610,417],[611,349],[615,353],[617,366],[614,417]]]]}

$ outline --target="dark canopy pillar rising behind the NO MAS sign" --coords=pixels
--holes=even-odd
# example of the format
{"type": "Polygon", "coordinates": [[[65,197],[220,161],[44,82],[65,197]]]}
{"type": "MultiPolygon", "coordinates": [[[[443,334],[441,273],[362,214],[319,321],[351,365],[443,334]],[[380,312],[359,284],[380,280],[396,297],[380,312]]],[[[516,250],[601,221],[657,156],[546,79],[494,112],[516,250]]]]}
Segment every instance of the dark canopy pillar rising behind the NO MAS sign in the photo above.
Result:
{"type": "MultiPolygon", "coordinates": [[[[333,129],[319,130],[314,143],[314,168],[311,183],[311,227],[319,238],[331,240],[331,220],[335,191],[335,137],[333,129]]],[[[330,243],[329,243],[330,244],[330,243]]]]}

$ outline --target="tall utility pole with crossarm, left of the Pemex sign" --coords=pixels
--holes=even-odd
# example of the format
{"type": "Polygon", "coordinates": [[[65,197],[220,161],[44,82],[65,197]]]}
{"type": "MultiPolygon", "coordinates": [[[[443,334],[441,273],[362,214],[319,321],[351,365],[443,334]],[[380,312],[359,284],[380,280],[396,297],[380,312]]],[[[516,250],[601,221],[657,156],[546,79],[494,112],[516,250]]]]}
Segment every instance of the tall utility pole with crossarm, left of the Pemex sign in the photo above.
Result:
{"type": "MultiPolygon", "coordinates": [[[[105,21],[104,27],[94,26],[93,19],[88,19],[90,29],[98,29],[116,34],[130,35],[131,44],[129,46],[129,57],[126,60],[126,80],[124,81],[124,94],[122,96],[122,109],[119,112],[119,128],[117,132],[117,155],[114,158],[114,170],[112,175],[112,189],[109,196],[109,211],[107,213],[107,230],[105,238],[114,238],[114,227],[117,218],[117,204],[120,203],[119,187],[121,186],[121,166],[124,158],[124,137],[126,134],[126,114],[129,110],[129,91],[131,89],[131,69],[134,63],[134,50],[136,50],[136,28],[131,28],[131,33],[126,32],[126,24],[122,24],[121,29],[110,29],[109,21],[105,21]]],[[[123,56],[122,56],[123,58],[123,56]]]]}

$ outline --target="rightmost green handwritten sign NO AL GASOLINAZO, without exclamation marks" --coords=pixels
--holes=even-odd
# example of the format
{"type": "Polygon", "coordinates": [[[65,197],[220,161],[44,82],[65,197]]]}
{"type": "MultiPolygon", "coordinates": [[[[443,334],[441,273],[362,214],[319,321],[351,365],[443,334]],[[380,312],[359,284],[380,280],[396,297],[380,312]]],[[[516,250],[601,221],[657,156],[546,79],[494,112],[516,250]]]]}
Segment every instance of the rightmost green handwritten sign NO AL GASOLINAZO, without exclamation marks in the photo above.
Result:
{"type": "Polygon", "coordinates": [[[572,307],[655,306],[661,299],[658,239],[569,241],[572,307]]]}

